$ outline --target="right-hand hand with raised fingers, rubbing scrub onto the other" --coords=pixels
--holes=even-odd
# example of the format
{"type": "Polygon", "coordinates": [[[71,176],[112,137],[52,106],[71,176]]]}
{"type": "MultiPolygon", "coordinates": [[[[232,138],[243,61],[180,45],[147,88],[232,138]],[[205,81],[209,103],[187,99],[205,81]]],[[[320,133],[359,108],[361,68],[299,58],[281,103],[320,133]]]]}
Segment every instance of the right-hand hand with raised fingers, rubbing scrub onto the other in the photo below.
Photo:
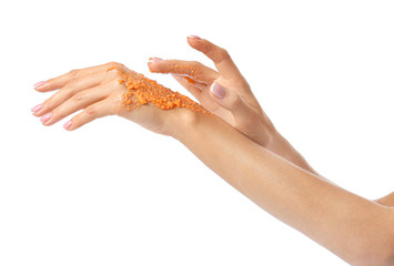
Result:
{"type": "Polygon", "coordinates": [[[149,62],[151,72],[172,73],[206,110],[266,146],[275,132],[274,126],[229,53],[199,37],[189,37],[188,42],[210,58],[218,71],[195,61],[152,58],[149,62]]]}

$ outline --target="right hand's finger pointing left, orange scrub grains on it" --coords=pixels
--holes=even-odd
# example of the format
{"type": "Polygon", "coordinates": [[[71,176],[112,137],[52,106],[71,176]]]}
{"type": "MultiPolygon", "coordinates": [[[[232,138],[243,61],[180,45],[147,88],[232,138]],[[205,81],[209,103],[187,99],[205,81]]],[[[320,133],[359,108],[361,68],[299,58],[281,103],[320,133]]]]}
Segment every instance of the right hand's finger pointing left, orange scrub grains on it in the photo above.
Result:
{"type": "Polygon", "coordinates": [[[219,78],[219,73],[196,61],[182,60],[150,60],[148,63],[151,72],[173,73],[193,78],[194,80],[211,84],[219,78]]]}

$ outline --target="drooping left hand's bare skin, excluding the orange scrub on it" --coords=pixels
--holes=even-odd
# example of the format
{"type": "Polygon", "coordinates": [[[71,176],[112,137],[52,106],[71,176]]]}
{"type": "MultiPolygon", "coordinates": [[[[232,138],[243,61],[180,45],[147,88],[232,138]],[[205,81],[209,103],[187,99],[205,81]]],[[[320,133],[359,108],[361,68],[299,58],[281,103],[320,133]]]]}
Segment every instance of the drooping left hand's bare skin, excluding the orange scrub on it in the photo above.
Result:
{"type": "Polygon", "coordinates": [[[52,125],[65,116],[82,110],[74,115],[64,127],[75,130],[95,119],[105,115],[120,115],[140,125],[161,134],[171,134],[169,126],[173,112],[180,110],[162,111],[149,103],[133,111],[127,111],[122,105],[122,95],[127,91],[124,83],[120,84],[122,73],[109,69],[119,65],[107,63],[98,66],[73,70],[61,76],[39,82],[36,90],[39,92],[57,92],[44,103],[32,109],[36,116],[41,116],[44,125],[52,125]]]}

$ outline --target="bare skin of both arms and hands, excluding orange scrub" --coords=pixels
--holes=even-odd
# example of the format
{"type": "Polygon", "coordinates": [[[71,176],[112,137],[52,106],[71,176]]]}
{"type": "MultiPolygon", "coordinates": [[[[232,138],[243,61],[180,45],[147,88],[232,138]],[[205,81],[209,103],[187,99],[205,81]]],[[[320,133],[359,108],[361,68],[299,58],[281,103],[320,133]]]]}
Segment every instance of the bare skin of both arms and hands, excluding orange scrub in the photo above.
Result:
{"type": "Polygon", "coordinates": [[[119,115],[173,136],[263,209],[347,263],[394,265],[394,193],[368,201],[319,175],[275,130],[229,53],[198,37],[188,42],[212,59],[218,71],[198,62],[158,59],[149,66],[152,72],[173,73],[216,115],[162,111],[152,104],[125,111],[120,104],[125,88],[118,84],[119,73],[107,71],[113,63],[74,70],[40,84],[37,91],[57,93],[36,108],[34,115],[52,125],[83,110],[65,123],[69,131],[119,115]],[[195,68],[186,72],[188,68],[174,64],[195,68]],[[212,83],[225,88],[224,98],[212,93],[212,83]]]}

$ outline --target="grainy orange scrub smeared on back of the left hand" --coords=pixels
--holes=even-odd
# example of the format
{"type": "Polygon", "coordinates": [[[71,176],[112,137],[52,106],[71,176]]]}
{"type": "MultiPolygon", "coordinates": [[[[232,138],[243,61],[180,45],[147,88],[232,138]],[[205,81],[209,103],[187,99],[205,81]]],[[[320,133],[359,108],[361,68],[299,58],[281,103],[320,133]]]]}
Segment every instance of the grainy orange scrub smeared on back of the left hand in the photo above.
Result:
{"type": "Polygon", "coordinates": [[[113,66],[108,69],[108,71],[110,70],[117,70],[121,75],[119,84],[127,86],[127,92],[122,96],[122,105],[128,111],[153,103],[162,110],[186,108],[195,112],[210,114],[209,111],[190,98],[179,92],[173,92],[158,82],[145,78],[143,74],[129,70],[121,63],[114,63],[113,66]]]}

